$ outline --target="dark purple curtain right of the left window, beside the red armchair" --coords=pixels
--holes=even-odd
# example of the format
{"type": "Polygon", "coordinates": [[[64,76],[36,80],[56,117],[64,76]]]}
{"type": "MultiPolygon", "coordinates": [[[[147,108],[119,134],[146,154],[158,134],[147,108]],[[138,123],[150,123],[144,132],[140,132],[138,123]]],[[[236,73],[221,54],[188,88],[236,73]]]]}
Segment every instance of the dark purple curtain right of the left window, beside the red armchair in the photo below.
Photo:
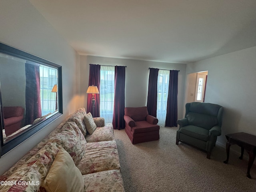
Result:
{"type": "Polygon", "coordinates": [[[115,96],[114,96],[114,129],[125,128],[124,122],[124,90],[125,90],[125,67],[115,66],[115,96]]]}

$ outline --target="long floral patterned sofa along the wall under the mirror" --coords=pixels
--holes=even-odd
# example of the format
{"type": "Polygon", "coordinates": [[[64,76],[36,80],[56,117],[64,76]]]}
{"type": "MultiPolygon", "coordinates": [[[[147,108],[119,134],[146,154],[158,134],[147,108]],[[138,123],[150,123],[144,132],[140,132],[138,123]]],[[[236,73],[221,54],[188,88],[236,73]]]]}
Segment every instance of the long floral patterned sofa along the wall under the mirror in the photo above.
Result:
{"type": "Polygon", "coordinates": [[[124,192],[112,124],[93,118],[88,134],[85,115],[79,108],[5,172],[0,191],[124,192]]]}

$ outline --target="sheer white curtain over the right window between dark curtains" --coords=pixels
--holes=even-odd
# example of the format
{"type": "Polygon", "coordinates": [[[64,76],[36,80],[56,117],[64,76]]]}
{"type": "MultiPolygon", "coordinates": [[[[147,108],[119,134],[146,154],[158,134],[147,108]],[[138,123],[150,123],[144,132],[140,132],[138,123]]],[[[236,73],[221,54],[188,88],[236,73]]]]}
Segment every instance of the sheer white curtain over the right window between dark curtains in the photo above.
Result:
{"type": "Polygon", "coordinates": [[[156,118],[158,118],[158,125],[161,127],[165,126],[169,76],[169,70],[158,71],[156,118]]]}

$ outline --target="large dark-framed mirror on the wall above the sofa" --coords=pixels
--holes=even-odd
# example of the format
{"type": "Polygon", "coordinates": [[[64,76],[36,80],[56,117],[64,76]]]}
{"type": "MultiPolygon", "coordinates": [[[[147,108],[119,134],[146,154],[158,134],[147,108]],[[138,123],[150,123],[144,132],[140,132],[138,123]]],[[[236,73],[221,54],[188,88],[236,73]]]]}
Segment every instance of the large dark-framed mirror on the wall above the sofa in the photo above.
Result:
{"type": "Polygon", "coordinates": [[[62,115],[62,68],[0,43],[0,156],[62,115]]]}

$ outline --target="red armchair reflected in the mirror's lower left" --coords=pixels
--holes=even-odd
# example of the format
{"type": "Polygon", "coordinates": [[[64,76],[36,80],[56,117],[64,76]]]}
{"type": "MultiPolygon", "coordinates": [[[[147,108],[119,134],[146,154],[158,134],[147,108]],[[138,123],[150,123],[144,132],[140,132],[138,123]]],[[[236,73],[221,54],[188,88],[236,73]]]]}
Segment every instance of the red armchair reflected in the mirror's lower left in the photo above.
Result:
{"type": "Polygon", "coordinates": [[[4,129],[6,136],[21,128],[24,108],[20,106],[4,107],[4,129]]]}

